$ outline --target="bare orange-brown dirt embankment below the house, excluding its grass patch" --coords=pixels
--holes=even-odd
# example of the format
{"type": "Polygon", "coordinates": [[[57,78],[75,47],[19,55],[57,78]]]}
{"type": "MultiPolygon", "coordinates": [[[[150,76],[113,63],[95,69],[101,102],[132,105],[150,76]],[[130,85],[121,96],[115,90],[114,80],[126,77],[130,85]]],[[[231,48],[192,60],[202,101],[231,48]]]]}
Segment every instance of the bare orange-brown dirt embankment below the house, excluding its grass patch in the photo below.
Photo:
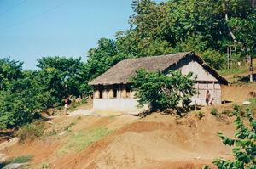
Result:
{"type": "MultiPolygon", "coordinates": [[[[55,127],[68,124],[77,117],[52,120],[55,127]],[[69,119],[68,119],[69,118],[69,119]]],[[[3,149],[9,156],[33,155],[32,167],[43,164],[51,168],[198,168],[210,164],[215,157],[231,158],[230,148],[221,143],[218,131],[232,136],[233,119],[221,122],[205,113],[199,120],[191,112],[187,118],[153,114],[144,119],[133,116],[115,118],[82,116],[73,132],[108,126],[116,130],[89,147],[75,153],[58,155],[67,144],[68,135],[53,136],[3,149]],[[229,123],[229,124],[227,124],[229,123]]]]}

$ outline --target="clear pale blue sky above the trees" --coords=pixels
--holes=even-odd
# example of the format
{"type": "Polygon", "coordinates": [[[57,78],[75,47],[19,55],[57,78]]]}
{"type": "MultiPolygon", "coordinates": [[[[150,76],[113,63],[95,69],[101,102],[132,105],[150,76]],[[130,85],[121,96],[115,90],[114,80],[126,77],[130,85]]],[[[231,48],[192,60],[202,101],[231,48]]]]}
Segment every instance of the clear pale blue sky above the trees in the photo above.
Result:
{"type": "Polygon", "coordinates": [[[0,0],[0,58],[35,70],[43,56],[82,57],[129,28],[131,0],[0,0]]]}

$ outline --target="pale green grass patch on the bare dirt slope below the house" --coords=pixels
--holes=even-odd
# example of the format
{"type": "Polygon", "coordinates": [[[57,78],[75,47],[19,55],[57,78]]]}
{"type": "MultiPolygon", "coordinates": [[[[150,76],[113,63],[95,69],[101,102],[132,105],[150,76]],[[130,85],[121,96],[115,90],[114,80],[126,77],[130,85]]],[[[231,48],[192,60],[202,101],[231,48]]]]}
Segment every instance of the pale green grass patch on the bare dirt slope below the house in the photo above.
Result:
{"type": "Polygon", "coordinates": [[[90,144],[95,143],[97,140],[108,136],[113,131],[108,131],[107,127],[97,127],[83,132],[80,130],[77,133],[73,133],[71,137],[67,140],[67,144],[58,151],[57,155],[63,155],[68,153],[70,150],[79,152],[90,144]]]}

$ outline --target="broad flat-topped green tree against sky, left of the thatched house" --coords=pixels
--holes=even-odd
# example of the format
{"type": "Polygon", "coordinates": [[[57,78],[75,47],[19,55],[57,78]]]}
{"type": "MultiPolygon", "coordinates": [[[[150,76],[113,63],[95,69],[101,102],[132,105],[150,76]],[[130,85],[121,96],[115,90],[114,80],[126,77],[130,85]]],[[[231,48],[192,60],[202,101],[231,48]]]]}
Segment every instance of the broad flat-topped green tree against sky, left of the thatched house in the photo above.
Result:
{"type": "MultiPolygon", "coordinates": [[[[79,73],[84,66],[81,57],[43,57],[38,59],[38,68],[41,69],[38,81],[45,92],[51,91],[53,97],[63,99],[64,96],[81,96],[84,91],[80,90],[83,82],[79,79],[79,73]],[[67,85],[67,88],[65,86],[67,85]]],[[[53,100],[54,101],[54,100],[53,100]]]]}

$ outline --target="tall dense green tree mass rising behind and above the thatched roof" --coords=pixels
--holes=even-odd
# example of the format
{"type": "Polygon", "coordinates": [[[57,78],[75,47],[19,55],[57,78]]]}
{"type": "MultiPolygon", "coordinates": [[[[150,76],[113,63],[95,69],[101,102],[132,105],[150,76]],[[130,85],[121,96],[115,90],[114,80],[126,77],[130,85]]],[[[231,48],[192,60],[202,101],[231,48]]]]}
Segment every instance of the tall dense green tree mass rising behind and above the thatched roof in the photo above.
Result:
{"type": "Polygon", "coordinates": [[[255,14],[252,15],[251,2],[135,0],[131,4],[134,14],[128,20],[130,29],[118,31],[116,43],[122,54],[133,58],[194,51],[215,69],[224,69],[226,51],[231,45],[236,45],[241,62],[246,55],[255,55],[255,14]],[[251,45],[247,45],[248,41],[251,45]]]}

